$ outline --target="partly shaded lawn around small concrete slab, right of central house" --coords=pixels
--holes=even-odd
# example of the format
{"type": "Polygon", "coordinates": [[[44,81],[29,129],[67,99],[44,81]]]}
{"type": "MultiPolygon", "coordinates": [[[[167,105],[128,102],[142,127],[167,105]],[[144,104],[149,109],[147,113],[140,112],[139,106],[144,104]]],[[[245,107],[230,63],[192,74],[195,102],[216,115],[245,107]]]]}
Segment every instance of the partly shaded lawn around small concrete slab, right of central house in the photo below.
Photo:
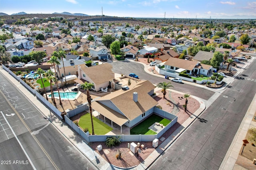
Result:
{"type": "Polygon", "coordinates": [[[154,123],[159,122],[164,126],[168,125],[171,121],[168,119],[162,118],[158,115],[151,115],[147,119],[145,119],[142,123],[137,125],[136,127],[130,130],[130,134],[156,134],[156,132],[150,130],[148,127],[153,125],[154,123]]]}

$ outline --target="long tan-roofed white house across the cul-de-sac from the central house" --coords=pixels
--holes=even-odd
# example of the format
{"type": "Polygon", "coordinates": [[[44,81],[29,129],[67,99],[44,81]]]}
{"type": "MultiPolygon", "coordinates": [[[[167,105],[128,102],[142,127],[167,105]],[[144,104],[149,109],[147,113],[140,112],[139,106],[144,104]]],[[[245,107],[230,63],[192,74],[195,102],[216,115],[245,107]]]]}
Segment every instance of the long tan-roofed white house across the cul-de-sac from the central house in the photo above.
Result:
{"type": "Polygon", "coordinates": [[[212,66],[207,64],[201,64],[196,61],[190,61],[185,59],[179,59],[170,57],[164,64],[164,68],[176,72],[178,69],[186,70],[188,75],[194,74],[203,74],[208,75],[211,72],[212,66]]]}

